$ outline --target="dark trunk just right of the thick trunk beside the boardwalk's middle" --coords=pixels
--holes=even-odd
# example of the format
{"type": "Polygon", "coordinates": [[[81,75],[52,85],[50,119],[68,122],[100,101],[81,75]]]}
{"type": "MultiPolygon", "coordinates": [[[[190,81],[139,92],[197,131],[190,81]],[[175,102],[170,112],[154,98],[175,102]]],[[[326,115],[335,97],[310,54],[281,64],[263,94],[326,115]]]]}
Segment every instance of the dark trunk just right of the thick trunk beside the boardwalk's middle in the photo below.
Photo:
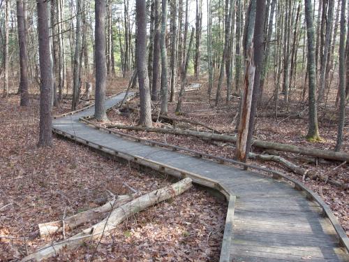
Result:
{"type": "Polygon", "coordinates": [[[160,17],[159,6],[160,0],[154,0],[154,50],[153,50],[153,78],[151,85],[151,100],[156,101],[158,99],[158,78],[160,73],[160,17]]]}

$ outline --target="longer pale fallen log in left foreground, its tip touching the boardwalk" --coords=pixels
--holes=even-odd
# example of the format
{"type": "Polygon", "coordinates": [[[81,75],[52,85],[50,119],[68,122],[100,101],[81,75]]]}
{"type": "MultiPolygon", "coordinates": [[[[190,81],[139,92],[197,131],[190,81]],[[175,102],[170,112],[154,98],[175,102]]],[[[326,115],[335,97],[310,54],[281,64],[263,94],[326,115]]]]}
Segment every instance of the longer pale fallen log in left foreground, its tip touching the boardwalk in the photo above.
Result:
{"type": "Polygon", "coordinates": [[[168,187],[152,191],[149,194],[135,198],[119,208],[110,212],[109,216],[98,224],[83,230],[77,235],[73,235],[67,240],[61,242],[50,243],[49,245],[38,249],[38,251],[24,257],[22,261],[41,261],[58,254],[61,249],[74,249],[82,245],[87,240],[101,239],[105,235],[109,235],[110,231],[119,225],[122,221],[131,217],[146,208],[156,205],[162,201],[168,200],[174,196],[182,194],[184,191],[192,187],[191,178],[186,178],[168,187]]]}

